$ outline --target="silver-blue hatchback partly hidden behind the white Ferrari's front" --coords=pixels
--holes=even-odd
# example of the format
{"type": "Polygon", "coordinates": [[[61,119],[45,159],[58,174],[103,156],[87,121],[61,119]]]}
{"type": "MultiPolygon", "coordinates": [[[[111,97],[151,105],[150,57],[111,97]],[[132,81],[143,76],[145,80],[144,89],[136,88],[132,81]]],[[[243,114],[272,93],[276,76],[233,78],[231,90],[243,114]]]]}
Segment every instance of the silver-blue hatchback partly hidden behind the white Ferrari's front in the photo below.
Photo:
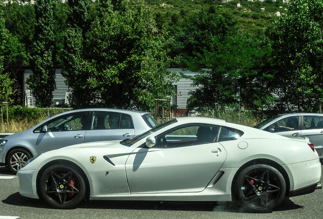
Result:
{"type": "Polygon", "coordinates": [[[68,145],[133,138],[158,123],[150,113],[126,109],[89,108],[56,115],[0,141],[0,166],[16,173],[27,160],[68,145]]]}

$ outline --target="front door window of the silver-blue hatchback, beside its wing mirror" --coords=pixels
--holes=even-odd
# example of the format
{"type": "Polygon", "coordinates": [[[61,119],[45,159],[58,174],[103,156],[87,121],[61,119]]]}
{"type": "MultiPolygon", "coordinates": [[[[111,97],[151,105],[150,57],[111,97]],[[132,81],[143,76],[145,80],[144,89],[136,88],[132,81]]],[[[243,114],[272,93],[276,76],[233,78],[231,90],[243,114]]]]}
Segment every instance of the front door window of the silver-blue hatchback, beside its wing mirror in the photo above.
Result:
{"type": "Polygon", "coordinates": [[[49,132],[57,131],[77,131],[82,130],[86,126],[86,114],[78,113],[73,115],[66,115],[57,119],[51,120],[47,123],[49,132]]]}

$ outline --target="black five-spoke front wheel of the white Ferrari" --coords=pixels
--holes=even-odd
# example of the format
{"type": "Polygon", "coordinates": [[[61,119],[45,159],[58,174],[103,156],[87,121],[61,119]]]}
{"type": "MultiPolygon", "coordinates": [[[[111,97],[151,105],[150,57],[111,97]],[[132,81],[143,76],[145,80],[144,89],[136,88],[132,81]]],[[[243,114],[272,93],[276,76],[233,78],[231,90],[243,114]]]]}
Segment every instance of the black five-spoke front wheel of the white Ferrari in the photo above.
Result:
{"type": "Polygon", "coordinates": [[[85,198],[81,174],[67,165],[53,165],[44,170],[39,180],[39,195],[51,207],[71,209],[85,198]]]}

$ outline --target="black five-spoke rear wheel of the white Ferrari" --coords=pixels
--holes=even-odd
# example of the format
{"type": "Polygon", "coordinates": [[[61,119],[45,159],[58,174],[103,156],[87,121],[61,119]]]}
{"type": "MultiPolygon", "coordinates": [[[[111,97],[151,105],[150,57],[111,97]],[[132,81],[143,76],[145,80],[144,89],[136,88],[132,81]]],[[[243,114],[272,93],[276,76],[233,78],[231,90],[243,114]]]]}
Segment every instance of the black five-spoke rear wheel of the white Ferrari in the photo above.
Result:
{"type": "Polygon", "coordinates": [[[283,201],[286,182],[276,168],[257,164],[238,173],[232,190],[244,210],[271,212],[283,201]]]}

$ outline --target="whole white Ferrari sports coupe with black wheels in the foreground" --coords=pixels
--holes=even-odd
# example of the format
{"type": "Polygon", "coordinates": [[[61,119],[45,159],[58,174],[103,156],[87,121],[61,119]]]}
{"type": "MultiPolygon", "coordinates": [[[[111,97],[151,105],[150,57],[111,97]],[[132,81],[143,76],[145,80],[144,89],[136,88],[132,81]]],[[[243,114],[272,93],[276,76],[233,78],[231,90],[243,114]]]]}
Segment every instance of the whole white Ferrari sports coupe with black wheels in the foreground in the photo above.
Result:
{"type": "Polygon", "coordinates": [[[61,209],[84,199],[237,200],[247,211],[268,212],[285,196],[321,188],[321,164],[307,138],[203,117],[47,152],[17,175],[20,195],[61,209]]]}

